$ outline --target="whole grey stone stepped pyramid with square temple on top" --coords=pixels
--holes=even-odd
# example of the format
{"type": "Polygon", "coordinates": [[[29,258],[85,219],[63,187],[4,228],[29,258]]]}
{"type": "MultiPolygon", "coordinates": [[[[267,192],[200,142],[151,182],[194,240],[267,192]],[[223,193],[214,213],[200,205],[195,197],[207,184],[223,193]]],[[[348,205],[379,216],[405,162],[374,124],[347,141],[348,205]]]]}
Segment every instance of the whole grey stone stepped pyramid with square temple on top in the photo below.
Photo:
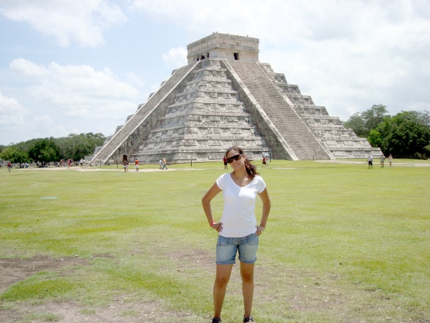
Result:
{"type": "Polygon", "coordinates": [[[91,162],[219,161],[233,145],[250,159],[381,154],[269,63],[261,63],[259,39],[214,32],[187,48],[188,65],[173,71],[96,147],[87,157],[91,162]]]}

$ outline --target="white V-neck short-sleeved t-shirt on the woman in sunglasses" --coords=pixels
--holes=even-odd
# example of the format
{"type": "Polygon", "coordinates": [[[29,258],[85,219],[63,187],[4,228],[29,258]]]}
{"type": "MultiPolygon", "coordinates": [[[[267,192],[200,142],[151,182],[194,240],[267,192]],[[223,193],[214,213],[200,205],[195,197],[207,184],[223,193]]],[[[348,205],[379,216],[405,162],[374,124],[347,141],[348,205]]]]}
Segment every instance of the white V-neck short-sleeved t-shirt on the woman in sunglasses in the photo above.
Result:
{"type": "Polygon", "coordinates": [[[248,185],[240,187],[233,181],[230,173],[225,173],[216,180],[216,185],[223,191],[224,211],[221,221],[223,230],[220,236],[240,238],[255,233],[255,198],[266,188],[261,176],[256,175],[248,185]]]}

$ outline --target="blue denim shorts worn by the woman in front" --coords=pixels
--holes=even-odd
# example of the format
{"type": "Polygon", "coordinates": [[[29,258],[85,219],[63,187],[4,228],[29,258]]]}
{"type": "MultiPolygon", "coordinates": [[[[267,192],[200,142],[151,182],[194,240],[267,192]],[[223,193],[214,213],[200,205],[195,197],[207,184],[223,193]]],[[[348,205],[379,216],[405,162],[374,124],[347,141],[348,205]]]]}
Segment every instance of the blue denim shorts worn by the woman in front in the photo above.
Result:
{"type": "Polygon", "coordinates": [[[252,233],[242,238],[218,236],[216,242],[216,264],[234,264],[236,253],[245,264],[254,264],[257,260],[258,236],[252,233]]]}

